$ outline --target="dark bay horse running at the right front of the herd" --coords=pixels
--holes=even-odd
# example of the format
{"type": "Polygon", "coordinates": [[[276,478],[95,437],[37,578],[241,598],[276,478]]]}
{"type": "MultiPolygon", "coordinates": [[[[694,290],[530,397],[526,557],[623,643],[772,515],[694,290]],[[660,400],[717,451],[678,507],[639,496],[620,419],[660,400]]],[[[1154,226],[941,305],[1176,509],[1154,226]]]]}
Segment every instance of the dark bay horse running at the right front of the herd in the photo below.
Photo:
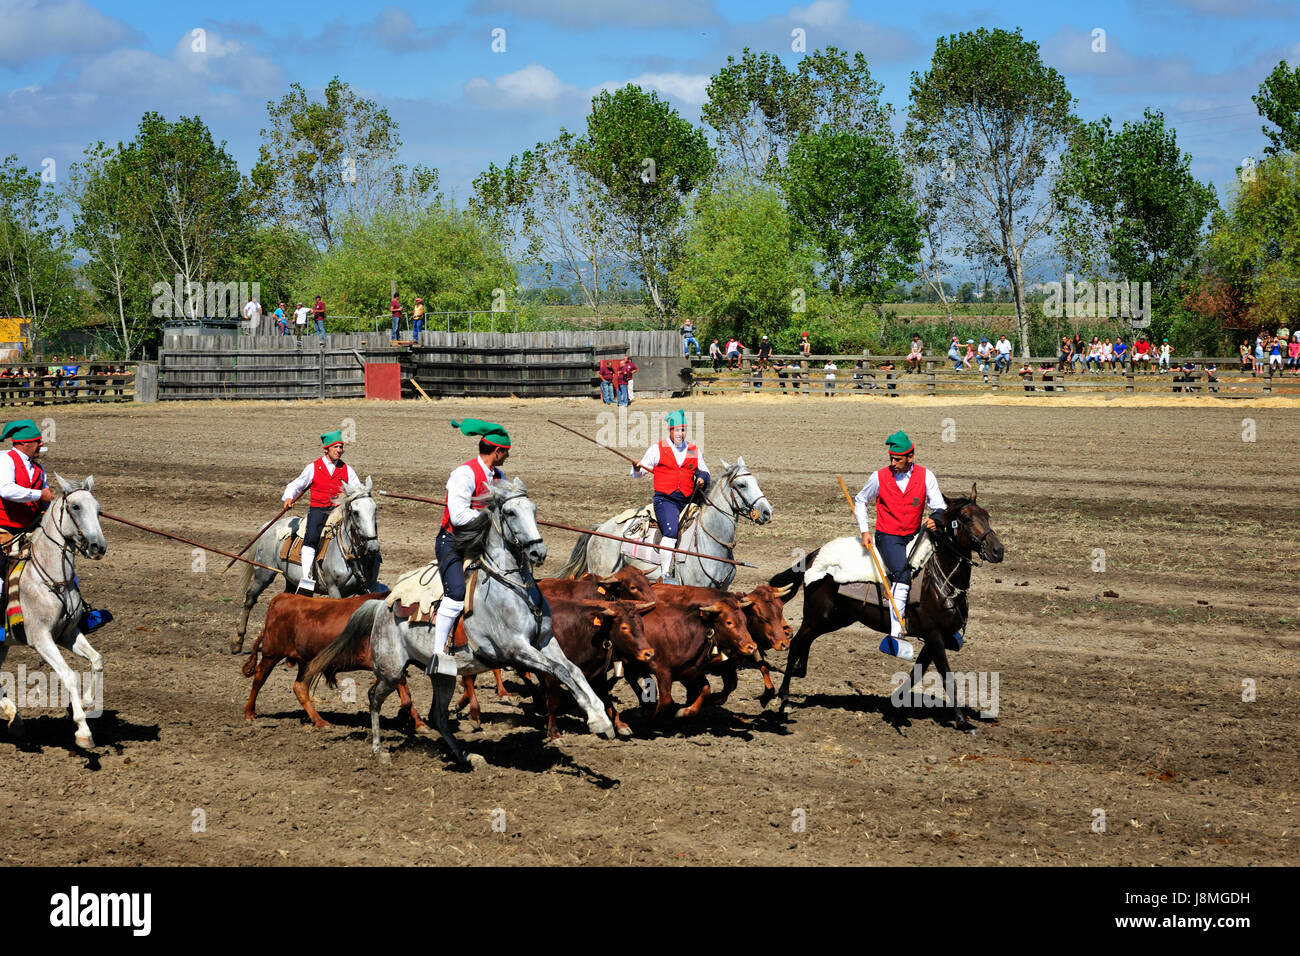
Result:
{"type": "MultiPolygon", "coordinates": [[[[966,592],[971,584],[971,554],[978,551],[984,561],[1002,561],[1002,542],[993,531],[988,512],[975,503],[975,485],[971,485],[970,498],[949,498],[944,496],[948,509],[937,522],[939,529],[926,532],[933,541],[935,550],[919,574],[919,581],[913,581],[907,601],[907,635],[923,641],[920,653],[907,680],[894,691],[901,698],[914,680],[926,672],[931,665],[939,671],[944,687],[950,687],[948,648],[958,650],[961,644],[954,635],[966,627],[966,592]]],[[[805,568],[811,566],[816,551],[802,562],[781,571],[770,584],[784,588],[803,583],[805,568]]],[[[793,597],[793,593],[790,594],[793,597]]],[[[781,708],[789,702],[790,678],[807,675],[809,649],[812,641],[823,633],[838,631],[853,623],[862,623],[872,631],[889,633],[889,607],[879,601],[857,601],[840,593],[840,585],[831,576],[809,585],[803,593],[803,623],[790,641],[790,653],[785,662],[785,679],[777,696],[781,708]]],[[[950,701],[953,721],[958,730],[974,730],[966,719],[963,708],[956,696],[950,701]]]]}

